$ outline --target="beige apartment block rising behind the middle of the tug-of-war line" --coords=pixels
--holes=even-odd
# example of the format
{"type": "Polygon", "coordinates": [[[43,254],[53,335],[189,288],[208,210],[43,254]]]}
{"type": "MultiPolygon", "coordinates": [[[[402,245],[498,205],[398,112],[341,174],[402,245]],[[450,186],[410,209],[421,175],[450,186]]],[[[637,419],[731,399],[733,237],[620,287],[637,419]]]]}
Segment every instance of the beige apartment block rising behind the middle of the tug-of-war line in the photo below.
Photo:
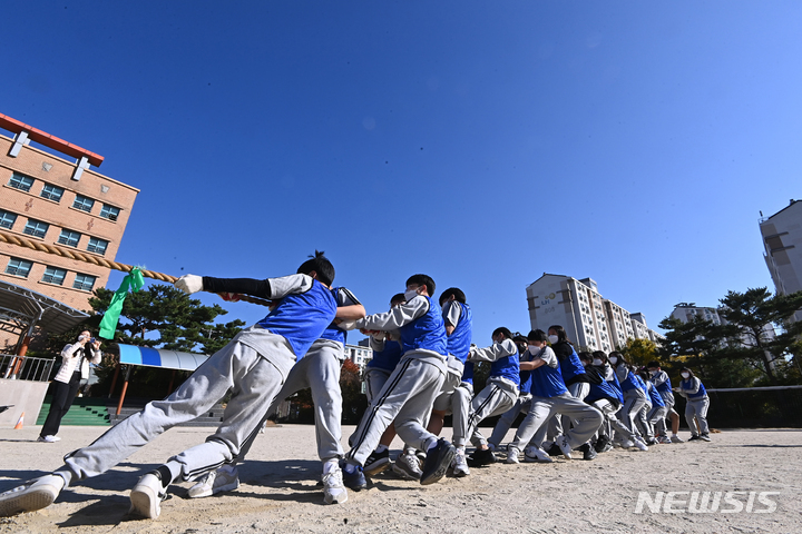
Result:
{"type": "Polygon", "coordinates": [[[609,353],[629,338],[661,343],[663,337],[646,326],[643,314],[603,298],[593,278],[544,273],[527,287],[527,303],[532,329],[561,325],[569,339],[591,350],[609,353]]]}

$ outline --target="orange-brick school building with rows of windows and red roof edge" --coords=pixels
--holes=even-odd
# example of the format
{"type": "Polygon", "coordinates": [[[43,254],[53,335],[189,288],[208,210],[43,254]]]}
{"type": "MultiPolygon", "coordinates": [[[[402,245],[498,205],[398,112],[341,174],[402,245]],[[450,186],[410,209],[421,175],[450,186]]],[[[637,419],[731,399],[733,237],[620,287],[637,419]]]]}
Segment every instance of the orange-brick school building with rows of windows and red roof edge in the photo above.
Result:
{"type": "MultiPolygon", "coordinates": [[[[0,129],[0,229],[114,260],[139,190],[96,172],[97,154],[4,115],[0,129]]],[[[1,280],[80,310],[109,270],[0,243],[1,280]]]]}

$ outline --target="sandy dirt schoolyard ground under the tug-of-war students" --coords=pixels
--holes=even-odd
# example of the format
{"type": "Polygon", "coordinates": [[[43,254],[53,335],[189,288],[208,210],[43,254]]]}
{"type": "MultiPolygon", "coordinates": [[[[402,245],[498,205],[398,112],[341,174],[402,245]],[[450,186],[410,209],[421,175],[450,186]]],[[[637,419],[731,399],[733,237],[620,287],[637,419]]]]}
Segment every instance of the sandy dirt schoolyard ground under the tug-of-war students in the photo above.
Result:
{"type": "MultiPolygon", "coordinates": [[[[0,429],[0,492],[59,467],[66,453],[91,443],[104,428],[63,427],[55,444],[37,443],[38,431],[0,429]]],[[[237,491],[190,500],[192,484],[178,484],[170,486],[158,520],[129,517],[128,492],[137,477],[203,442],[209,431],[173,428],[115,469],[66,490],[50,507],[0,518],[0,533],[802,532],[798,429],[723,431],[712,443],[659,445],[647,453],[615,449],[594,462],[493,464],[431,486],[382,474],[366,491],[350,492],[346,503],[326,505],[316,486],[314,427],[283,426],[257,439],[239,467],[237,491]],[[668,512],[642,506],[636,513],[639,492],[652,500],[656,492],[745,493],[732,496],[741,512],[723,512],[739,506],[722,501],[717,512],[689,513],[683,504],[689,494],[678,493],[668,512]],[[772,506],[760,498],[747,505],[749,492],[777,492],[764,496],[775,510],[756,513],[772,506]]]]}

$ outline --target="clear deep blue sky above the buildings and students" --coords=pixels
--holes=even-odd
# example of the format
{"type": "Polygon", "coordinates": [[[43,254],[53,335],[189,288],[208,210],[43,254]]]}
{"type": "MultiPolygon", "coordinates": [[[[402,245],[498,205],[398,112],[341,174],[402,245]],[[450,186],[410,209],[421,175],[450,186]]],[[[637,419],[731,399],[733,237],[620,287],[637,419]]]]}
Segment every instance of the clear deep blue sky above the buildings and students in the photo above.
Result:
{"type": "Polygon", "coordinates": [[[0,112],[141,189],[123,263],[264,278],[323,249],[369,313],[414,273],[463,288],[480,344],[528,330],[544,271],[590,276],[656,327],[773,290],[757,219],[802,197],[800,20],[799,1],[7,2],[0,112]]]}

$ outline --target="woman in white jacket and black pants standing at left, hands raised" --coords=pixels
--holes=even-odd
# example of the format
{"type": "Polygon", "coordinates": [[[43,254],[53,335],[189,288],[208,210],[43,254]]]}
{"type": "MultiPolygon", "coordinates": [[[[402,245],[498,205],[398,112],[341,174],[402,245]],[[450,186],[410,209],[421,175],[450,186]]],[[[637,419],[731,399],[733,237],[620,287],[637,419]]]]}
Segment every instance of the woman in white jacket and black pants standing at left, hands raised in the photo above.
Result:
{"type": "Polygon", "coordinates": [[[50,412],[39,434],[39,442],[53,443],[61,439],[57,437],[61,417],[69,412],[72,400],[78,393],[78,387],[84,378],[89,378],[89,363],[99,364],[100,342],[91,337],[89,330],[84,330],[78,336],[78,342],[66,345],[61,350],[61,368],[56,374],[50,412]]]}

